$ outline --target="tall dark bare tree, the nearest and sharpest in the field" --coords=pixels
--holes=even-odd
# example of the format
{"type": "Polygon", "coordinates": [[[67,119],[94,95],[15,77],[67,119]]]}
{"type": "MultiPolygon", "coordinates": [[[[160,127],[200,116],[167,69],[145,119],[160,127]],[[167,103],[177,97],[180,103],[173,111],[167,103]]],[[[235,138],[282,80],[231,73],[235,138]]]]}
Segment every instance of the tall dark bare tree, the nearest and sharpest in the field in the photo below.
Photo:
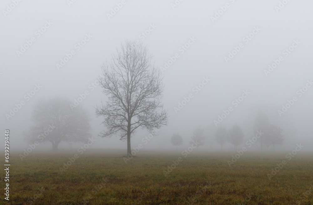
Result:
{"type": "Polygon", "coordinates": [[[167,125],[167,111],[162,103],[162,73],[151,64],[147,47],[131,41],[103,64],[99,78],[108,101],[96,107],[96,115],[103,116],[107,130],[101,137],[117,136],[127,140],[127,154],[131,155],[131,136],[141,127],[152,133],[167,125]]]}

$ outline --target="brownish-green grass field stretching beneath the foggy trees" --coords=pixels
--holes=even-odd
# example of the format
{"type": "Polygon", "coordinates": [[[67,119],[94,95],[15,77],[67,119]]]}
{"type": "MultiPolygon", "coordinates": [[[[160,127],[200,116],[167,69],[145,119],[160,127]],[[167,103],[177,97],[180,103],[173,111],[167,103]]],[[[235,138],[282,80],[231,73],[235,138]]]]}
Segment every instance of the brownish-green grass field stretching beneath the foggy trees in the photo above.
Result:
{"type": "Polygon", "coordinates": [[[11,154],[10,201],[1,204],[313,204],[312,153],[298,153],[271,179],[286,153],[244,153],[229,166],[235,153],[142,151],[125,163],[124,150],[88,150],[64,170],[74,154],[11,154]]]}

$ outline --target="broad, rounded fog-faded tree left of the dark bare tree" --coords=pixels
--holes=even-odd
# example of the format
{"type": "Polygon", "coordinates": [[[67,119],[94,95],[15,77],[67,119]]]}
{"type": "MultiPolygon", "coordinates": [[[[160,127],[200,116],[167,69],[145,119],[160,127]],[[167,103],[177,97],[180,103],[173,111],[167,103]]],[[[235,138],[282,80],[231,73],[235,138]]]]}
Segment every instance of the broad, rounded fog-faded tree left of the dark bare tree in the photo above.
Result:
{"type": "Polygon", "coordinates": [[[26,133],[29,142],[52,143],[57,150],[59,143],[87,142],[90,134],[90,118],[80,106],[70,107],[71,101],[64,98],[39,100],[32,112],[35,126],[26,133]]]}

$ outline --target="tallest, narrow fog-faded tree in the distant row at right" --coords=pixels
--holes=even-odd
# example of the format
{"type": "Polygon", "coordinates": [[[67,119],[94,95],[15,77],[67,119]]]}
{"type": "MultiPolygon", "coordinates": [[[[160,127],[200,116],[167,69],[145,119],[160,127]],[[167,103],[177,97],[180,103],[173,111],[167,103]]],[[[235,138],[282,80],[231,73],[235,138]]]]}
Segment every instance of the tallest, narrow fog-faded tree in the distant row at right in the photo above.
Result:
{"type": "Polygon", "coordinates": [[[268,128],[269,128],[269,118],[265,113],[263,113],[261,110],[258,112],[257,117],[253,124],[253,132],[254,136],[257,134],[258,131],[261,131],[262,136],[259,138],[259,146],[263,148],[263,144],[268,144],[268,128]]]}

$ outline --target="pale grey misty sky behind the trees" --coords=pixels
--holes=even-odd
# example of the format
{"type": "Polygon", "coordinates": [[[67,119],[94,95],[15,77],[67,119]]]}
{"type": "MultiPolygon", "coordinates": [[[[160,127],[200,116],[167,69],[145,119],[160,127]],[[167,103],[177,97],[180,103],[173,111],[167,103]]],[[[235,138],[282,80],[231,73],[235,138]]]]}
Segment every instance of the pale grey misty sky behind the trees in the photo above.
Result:
{"type": "MultiPolygon", "coordinates": [[[[177,7],[173,7],[174,0],[125,0],[111,17],[107,14],[122,1],[76,0],[69,5],[66,0],[28,0],[18,2],[11,12],[3,12],[15,1],[18,0],[0,3],[0,132],[10,129],[12,150],[28,146],[23,132],[32,125],[33,105],[42,98],[67,97],[74,103],[88,90],[90,94],[81,105],[92,118],[92,134],[97,136],[105,129],[100,125],[103,118],[95,117],[94,107],[107,98],[92,83],[99,77],[101,65],[126,39],[147,45],[156,68],[164,67],[171,57],[179,55],[164,70],[163,102],[169,124],[144,148],[174,149],[170,144],[173,133],[182,135],[181,148],[185,148],[192,130],[201,125],[206,140],[199,149],[209,150],[208,138],[215,130],[213,120],[230,106],[233,111],[218,126],[229,128],[237,123],[244,130],[244,142],[253,137],[252,125],[261,109],[270,123],[284,130],[284,145],[277,149],[294,148],[297,143],[305,144],[305,150],[312,148],[313,86],[299,94],[300,89],[310,86],[307,81],[313,80],[310,0],[289,1],[281,10],[275,9],[280,5],[278,0],[184,0],[177,7]],[[219,10],[222,14],[218,17],[219,10]],[[38,32],[42,27],[44,32],[38,32]],[[149,35],[141,35],[149,28],[149,35]],[[254,34],[249,37],[250,33],[254,34]],[[31,39],[35,41],[19,53],[31,39]],[[85,45],[78,45],[84,39],[85,45]],[[183,49],[188,42],[192,42],[190,47],[183,49]],[[240,51],[227,60],[229,52],[238,48],[240,51]],[[72,50],[75,54],[58,69],[56,64],[72,50]],[[279,65],[266,75],[264,70],[277,60],[279,65]],[[203,78],[210,79],[209,83],[195,92],[203,78]],[[27,93],[36,85],[41,88],[28,98],[27,93]],[[249,95],[235,107],[233,101],[244,91],[249,95]],[[190,93],[193,98],[175,112],[174,107],[190,93]],[[278,110],[293,97],[297,101],[280,116],[278,110]],[[22,100],[25,105],[7,120],[6,114],[22,100]]],[[[147,134],[138,130],[131,146],[136,147],[147,134]]],[[[118,137],[95,138],[93,148],[126,149],[126,142],[118,137]]],[[[51,144],[41,147],[45,146],[51,148],[51,144]]],[[[63,143],[59,148],[67,146],[63,143]]],[[[233,149],[230,144],[226,147],[233,149]]],[[[213,149],[219,148],[217,143],[213,145],[213,149]]]]}

